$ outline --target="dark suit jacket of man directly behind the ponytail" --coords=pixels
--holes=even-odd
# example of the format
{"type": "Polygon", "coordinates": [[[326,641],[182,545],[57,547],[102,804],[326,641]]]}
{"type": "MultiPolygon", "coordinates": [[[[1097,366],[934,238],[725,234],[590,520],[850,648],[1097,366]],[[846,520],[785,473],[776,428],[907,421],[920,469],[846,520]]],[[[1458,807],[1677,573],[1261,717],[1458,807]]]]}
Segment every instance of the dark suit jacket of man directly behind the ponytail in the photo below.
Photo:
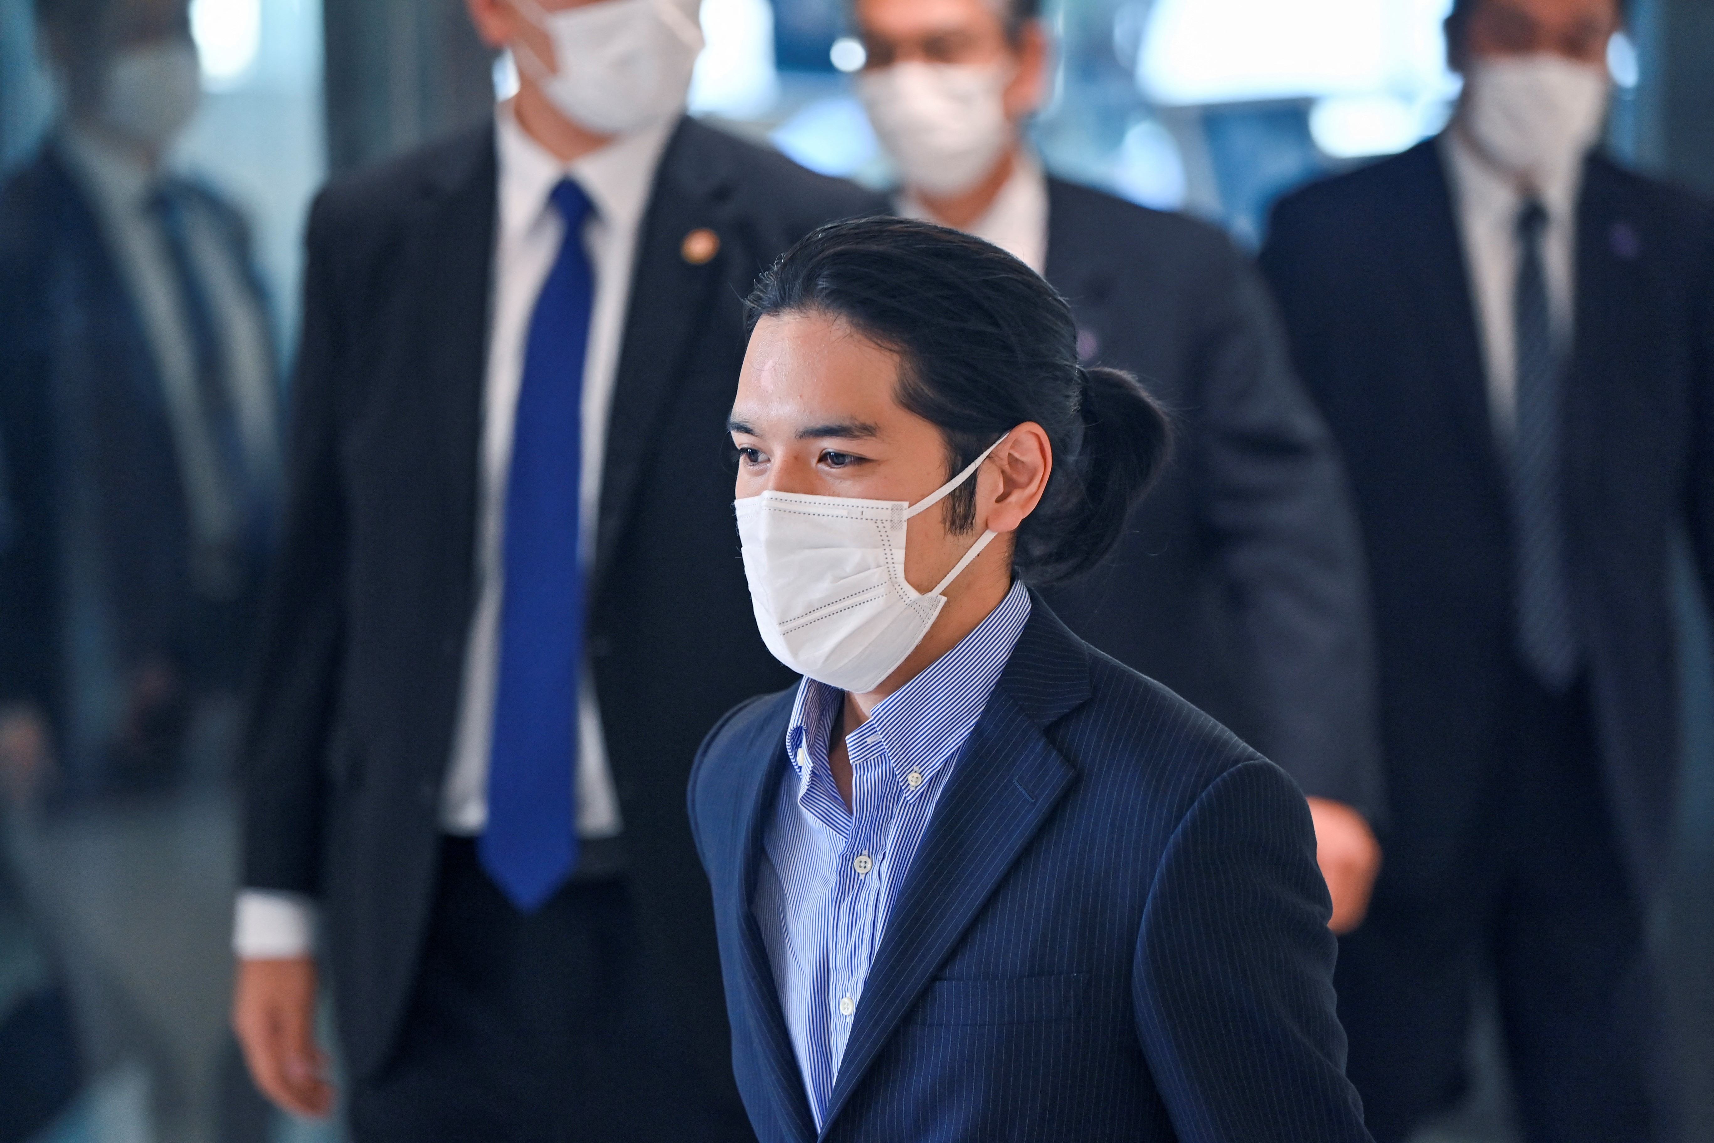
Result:
{"type": "Polygon", "coordinates": [[[1306,793],[1375,816],[1356,512],[1260,274],[1212,226],[1051,180],[1047,279],[1085,358],[1136,374],[1178,422],[1174,463],[1118,554],[1051,591],[1054,608],[1306,793]]]}

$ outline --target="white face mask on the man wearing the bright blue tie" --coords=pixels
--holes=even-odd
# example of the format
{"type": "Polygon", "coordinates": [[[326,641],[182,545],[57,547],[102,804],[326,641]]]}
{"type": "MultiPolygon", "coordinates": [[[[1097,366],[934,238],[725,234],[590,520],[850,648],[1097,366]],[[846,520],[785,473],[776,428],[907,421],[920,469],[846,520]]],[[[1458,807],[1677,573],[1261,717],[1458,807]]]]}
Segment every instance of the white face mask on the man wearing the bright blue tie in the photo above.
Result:
{"type": "Polygon", "coordinates": [[[566,118],[622,135],[684,108],[703,29],[672,0],[600,0],[564,12],[516,3],[554,41],[559,70],[523,41],[512,57],[566,118]]]}

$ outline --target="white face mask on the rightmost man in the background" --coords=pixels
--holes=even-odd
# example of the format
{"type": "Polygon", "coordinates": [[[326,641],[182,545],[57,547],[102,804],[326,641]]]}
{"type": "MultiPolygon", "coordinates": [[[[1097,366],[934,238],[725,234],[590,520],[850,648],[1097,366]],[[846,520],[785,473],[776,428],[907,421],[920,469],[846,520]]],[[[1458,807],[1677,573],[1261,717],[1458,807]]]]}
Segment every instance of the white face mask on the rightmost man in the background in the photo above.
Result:
{"type": "Polygon", "coordinates": [[[1606,99],[1604,67],[1548,53],[1484,58],[1465,69],[1459,118],[1489,163],[1539,189],[1582,163],[1606,99]]]}

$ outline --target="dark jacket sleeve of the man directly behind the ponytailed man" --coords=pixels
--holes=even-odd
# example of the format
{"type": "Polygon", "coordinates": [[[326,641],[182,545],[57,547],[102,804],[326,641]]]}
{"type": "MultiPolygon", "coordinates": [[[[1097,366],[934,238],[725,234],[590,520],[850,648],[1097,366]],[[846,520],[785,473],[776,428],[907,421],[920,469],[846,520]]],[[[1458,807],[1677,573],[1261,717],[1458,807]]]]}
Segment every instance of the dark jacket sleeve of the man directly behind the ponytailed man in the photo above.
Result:
{"type": "Polygon", "coordinates": [[[1234,281],[1200,353],[1195,466],[1239,617],[1253,744],[1304,793],[1381,809],[1368,576],[1332,434],[1292,374],[1256,271],[1234,281]]]}

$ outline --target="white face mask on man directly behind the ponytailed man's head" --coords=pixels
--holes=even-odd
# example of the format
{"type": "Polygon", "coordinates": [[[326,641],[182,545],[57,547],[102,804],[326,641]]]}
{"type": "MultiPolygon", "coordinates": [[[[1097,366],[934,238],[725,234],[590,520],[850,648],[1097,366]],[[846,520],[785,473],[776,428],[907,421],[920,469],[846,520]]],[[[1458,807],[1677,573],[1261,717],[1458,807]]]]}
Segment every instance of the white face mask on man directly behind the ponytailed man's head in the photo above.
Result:
{"type": "Polygon", "coordinates": [[[982,182],[1011,142],[1006,63],[895,63],[857,77],[869,123],[905,185],[951,195],[982,182]]]}

